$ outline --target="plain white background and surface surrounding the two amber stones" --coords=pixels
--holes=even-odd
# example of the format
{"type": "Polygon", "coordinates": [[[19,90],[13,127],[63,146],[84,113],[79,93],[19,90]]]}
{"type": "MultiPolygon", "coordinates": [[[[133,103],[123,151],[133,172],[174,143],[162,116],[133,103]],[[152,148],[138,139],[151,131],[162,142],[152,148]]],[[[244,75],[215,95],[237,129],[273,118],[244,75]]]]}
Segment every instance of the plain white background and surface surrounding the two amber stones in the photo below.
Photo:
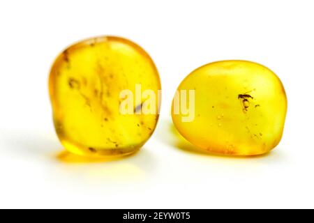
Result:
{"type": "Polygon", "coordinates": [[[314,208],[313,12],[311,0],[0,1],[0,208],[314,208]],[[163,84],[155,134],[107,162],[60,155],[47,92],[57,54],[100,35],[140,44],[163,84]],[[205,155],[172,133],[181,80],[225,59],[285,86],[284,136],[267,155],[205,155]]]}

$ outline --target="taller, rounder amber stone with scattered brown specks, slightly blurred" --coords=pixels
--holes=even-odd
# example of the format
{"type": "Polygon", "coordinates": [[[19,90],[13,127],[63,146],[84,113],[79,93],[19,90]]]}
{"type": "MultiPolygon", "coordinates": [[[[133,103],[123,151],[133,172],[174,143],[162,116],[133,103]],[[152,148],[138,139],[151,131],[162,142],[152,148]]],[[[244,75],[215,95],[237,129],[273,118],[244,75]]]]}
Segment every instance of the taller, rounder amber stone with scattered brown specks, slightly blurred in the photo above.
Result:
{"type": "Polygon", "coordinates": [[[91,38],[68,47],[54,61],[49,79],[54,127],[61,144],[78,155],[134,153],[158,121],[158,100],[142,113],[145,90],[156,95],[160,79],[144,50],[124,38],[91,38]],[[121,113],[127,91],[133,113],[121,113]],[[137,95],[136,95],[137,93],[137,95]]]}

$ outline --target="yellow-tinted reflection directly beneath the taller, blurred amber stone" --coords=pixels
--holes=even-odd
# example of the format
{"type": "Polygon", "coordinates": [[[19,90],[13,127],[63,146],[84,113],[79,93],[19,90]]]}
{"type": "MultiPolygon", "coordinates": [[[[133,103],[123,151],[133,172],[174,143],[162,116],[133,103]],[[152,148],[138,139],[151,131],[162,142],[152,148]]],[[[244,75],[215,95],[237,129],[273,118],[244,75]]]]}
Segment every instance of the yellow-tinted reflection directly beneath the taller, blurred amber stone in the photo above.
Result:
{"type": "Polygon", "coordinates": [[[91,182],[130,182],[153,176],[156,160],[149,149],[142,148],[137,154],[124,157],[84,157],[67,151],[54,154],[57,167],[63,174],[84,177],[91,182]]]}

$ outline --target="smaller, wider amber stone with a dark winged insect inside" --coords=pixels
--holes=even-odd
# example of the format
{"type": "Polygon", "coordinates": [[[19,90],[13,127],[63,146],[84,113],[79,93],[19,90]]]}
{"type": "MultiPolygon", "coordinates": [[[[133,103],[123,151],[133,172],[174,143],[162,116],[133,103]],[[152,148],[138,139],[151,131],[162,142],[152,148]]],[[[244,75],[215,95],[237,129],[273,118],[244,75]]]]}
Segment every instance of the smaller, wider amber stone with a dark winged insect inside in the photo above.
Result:
{"type": "Polygon", "coordinates": [[[183,137],[228,155],[271,151],[281,141],[286,112],[281,80],[249,61],[218,61],[194,70],[172,102],[172,120],[183,137]]]}

